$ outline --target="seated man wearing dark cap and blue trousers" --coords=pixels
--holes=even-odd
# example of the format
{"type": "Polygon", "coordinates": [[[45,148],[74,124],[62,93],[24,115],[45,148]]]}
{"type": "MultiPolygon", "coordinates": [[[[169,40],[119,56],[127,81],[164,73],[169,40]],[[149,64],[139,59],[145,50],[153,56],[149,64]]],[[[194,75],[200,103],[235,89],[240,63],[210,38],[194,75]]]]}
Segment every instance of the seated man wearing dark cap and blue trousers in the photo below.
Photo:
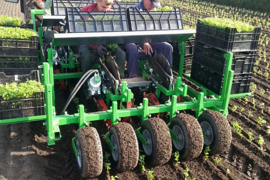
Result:
{"type": "MultiPolygon", "coordinates": [[[[138,8],[138,10],[151,11],[154,8],[160,8],[160,0],[143,0],[141,3],[132,6],[138,8]]],[[[167,57],[169,64],[172,64],[172,45],[167,42],[156,42],[156,43],[140,43],[140,44],[126,44],[126,55],[127,55],[127,75],[128,78],[135,78],[141,76],[139,68],[139,50],[143,49],[146,54],[154,55],[153,52],[159,53],[162,51],[162,55],[167,57]]]]}

